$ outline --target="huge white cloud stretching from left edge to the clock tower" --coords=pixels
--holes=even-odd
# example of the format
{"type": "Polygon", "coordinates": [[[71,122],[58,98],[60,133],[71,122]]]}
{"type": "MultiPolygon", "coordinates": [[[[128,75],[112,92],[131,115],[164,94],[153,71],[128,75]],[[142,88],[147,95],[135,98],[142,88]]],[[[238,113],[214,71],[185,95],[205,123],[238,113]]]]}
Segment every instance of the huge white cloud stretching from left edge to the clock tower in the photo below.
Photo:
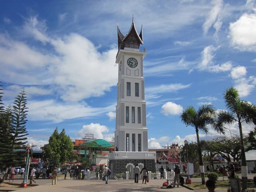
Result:
{"type": "Polygon", "coordinates": [[[102,96],[116,86],[116,48],[100,53],[92,42],[74,33],[52,38],[45,33],[45,21],[38,21],[37,17],[26,20],[24,31],[36,40],[48,42],[55,52],[45,55],[0,34],[0,75],[6,82],[52,85],[58,87],[60,98],[72,102],[102,96]]]}

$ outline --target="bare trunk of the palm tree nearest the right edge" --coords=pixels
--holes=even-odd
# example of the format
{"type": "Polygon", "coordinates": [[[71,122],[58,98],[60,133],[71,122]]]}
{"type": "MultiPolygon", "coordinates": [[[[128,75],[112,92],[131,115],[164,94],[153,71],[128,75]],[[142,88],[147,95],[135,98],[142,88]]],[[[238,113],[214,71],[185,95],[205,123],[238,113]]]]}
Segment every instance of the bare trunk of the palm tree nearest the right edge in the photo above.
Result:
{"type": "Polygon", "coordinates": [[[238,126],[239,126],[239,132],[240,132],[240,147],[241,147],[241,159],[242,159],[242,167],[241,167],[241,173],[242,173],[242,190],[247,189],[247,165],[246,165],[246,157],[245,157],[245,151],[244,151],[244,138],[243,138],[243,132],[242,132],[242,123],[240,121],[240,118],[238,119],[238,126]]]}

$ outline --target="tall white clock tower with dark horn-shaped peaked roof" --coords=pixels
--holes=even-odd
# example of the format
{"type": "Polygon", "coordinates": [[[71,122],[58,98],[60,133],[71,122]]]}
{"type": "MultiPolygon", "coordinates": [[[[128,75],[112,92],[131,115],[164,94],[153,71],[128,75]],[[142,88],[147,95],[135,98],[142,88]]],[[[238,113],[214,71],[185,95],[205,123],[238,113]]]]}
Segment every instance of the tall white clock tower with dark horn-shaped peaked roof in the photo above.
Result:
{"type": "MultiPolygon", "coordinates": [[[[144,94],[143,59],[146,49],[143,44],[142,28],[138,34],[134,19],[124,36],[117,25],[118,64],[115,152],[110,154],[110,168],[115,173],[129,171],[127,164],[144,166],[148,160],[155,163],[155,152],[148,152],[148,128],[146,128],[146,102],[144,94]],[[124,167],[116,167],[122,161],[124,167]],[[127,169],[127,170],[126,170],[127,169]]],[[[146,163],[147,164],[147,163],[146,163]]],[[[150,167],[147,165],[147,168],[150,167]]],[[[155,166],[152,166],[155,170],[155,166]]]]}

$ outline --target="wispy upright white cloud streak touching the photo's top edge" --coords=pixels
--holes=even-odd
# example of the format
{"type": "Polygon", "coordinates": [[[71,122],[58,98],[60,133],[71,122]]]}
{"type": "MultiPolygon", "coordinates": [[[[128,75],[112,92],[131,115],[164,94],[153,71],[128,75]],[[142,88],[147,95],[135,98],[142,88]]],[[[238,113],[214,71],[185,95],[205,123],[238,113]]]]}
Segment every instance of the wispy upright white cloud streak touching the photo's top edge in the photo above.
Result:
{"type": "Polygon", "coordinates": [[[216,31],[218,31],[220,29],[221,24],[222,24],[222,22],[220,21],[219,14],[220,14],[220,11],[222,9],[223,2],[222,2],[222,0],[214,0],[213,4],[214,4],[214,6],[212,7],[210,12],[208,13],[206,21],[203,24],[204,34],[207,34],[208,30],[210,29],[210,27],[212,25],[214,25],[214,28],[216,29],[216,31]],[[217,19],[217,21],[216,21],[216,19],[217,19]],[[214,24],[214,22],[215,22],[215,24],[214,24]]]}

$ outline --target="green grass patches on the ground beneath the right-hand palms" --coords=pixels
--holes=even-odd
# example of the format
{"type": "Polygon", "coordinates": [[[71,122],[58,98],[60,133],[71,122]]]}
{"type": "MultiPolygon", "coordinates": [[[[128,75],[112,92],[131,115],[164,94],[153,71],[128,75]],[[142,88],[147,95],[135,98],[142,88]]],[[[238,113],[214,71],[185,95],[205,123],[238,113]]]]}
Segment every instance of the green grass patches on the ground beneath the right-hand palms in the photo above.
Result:
{"type": "MultiPolygon", "coordinates": [[[[201,182],[195,182],[195,183],[186,184],[186,185],[195,189],[206,189],[206,186],[202,185],[201,182]]],[[[230,183],[228,181],[217,181],[215,186],[216,186],[216,189],[228,189],[230,187],[230,183]]],[[[247,188],[256,189],[256,186],[253,182],[248,182],[247,188]]]]}

